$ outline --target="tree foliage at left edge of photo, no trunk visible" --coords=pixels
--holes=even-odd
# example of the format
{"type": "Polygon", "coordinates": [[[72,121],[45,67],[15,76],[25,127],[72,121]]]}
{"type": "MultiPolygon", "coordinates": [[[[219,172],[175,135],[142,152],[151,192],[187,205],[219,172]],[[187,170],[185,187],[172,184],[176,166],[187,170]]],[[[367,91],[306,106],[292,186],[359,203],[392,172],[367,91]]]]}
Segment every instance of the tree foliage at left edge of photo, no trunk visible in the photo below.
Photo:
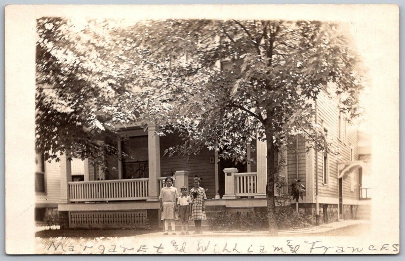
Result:
{"type": "Polygon", "coordinates": [[[46,160],[67,154],[103,164],[117,154],[111,119],[132,89],[113,28],[106,20],[37,20],[35,147],[46,160]]]}

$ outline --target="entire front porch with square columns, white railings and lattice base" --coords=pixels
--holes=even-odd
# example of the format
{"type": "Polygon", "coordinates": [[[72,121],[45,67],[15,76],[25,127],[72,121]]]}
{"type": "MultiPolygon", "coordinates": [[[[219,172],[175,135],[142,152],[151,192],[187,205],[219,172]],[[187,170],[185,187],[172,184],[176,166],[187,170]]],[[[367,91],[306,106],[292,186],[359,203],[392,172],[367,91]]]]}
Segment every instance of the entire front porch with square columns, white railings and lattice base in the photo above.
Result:
{"type": "Polygon", "coordinates": [[[188,159],[169,158],[160,148],[173,146],[178,140],[174,136],[158,137],[154,132],[153,126],[146,132],[138,128],[124,130],[123,135],[130,139],[118,139],[117,149],[131,158],[106,158],[107,172],[85,160],[80,181],[77,171],[72,172],[74,164],[62,156],[58,210],[65,225],[70,228],[160,225],[158,197],[166,177],[175,179],[174,187],[178,190],[182,186],[190,189],[195,176],[202,178],[201,187],[206,189],[208,198],[207,213],[225,209],[245,212],[266,206],[264,142],[257,141],[255,152],[247,148],[248,163],[238,169],[220,161],[216,151],[206,150],[188,159]]]}

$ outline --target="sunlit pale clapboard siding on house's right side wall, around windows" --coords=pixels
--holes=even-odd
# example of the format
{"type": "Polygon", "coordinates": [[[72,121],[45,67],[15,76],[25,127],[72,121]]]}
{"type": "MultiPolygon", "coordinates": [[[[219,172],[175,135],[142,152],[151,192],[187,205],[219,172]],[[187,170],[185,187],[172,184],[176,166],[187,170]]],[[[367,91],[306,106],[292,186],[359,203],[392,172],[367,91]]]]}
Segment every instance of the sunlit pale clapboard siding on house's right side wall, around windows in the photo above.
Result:
{"type": "MultiPolygon", "coordinates": [[[[350,149],[353,148],[353,158],[357,160],[357,127],[347,123],[347,140],[339,139],[339,105],[337,97],[327,97],[320,94],[317,100],[318,123],[328,130],[328,138],[332,147],[339,148],[339,155],[329,154],[329,182],[323,184],[323,152],[318,151],[318,180],[319,195],[326,197],[338,197],[338,162],[350,161],[350,149]]],[[[314,157],[315,164],[315,157],[314,157]]],[[[316,175],[316,171],[314,171],[316,175]]],[[[350,176],[343,180],[343,198],[358,198],[358,171],[354,171],[354,191],[350,191],[350,176]]]]}

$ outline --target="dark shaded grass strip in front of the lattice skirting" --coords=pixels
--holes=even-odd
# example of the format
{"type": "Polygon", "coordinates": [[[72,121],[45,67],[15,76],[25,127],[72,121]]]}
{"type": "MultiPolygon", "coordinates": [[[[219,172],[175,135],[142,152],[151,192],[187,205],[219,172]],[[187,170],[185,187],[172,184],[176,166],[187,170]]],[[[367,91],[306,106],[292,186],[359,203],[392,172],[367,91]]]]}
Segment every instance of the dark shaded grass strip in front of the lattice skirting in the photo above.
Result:
{"type": "Polygon", "coordinates": [[[78,237],[89,238],[95,237],[131,237],[147,233],[159,232],[161,230],[146,229],[55,229],[42,230],[35,233],[35,237],[78,237]]]}

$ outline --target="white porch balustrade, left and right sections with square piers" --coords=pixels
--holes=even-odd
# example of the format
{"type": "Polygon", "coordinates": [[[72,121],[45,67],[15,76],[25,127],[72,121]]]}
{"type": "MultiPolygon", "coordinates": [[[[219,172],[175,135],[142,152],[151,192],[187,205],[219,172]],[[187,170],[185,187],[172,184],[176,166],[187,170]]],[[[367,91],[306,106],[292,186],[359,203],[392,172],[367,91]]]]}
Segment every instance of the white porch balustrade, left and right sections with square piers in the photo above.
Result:
{"type": "MultiPolygon", "coordinates": [[[[257,172],[237,173],[236,168],[225,168],[225,195],[223,199],[265,198],[263,186],[258,183],[257,172]]],[[[174,187],[179,190],[188,187],[189,172],[176,171],[174,187]]],[[[74,181],[68,182],[68,198],[66,203],[101,203],[113,201],[156,201],[158,192],[165,186],[166,177],[159,177],[150,188],[150,179],[74,181]],[[155,192],[150,195],[150,192],[155,192]]],[[[219,196],[215,197],[219,200],[219,196]]],[[[222,201],[222,200],[221,200],[222,201]]]]}

